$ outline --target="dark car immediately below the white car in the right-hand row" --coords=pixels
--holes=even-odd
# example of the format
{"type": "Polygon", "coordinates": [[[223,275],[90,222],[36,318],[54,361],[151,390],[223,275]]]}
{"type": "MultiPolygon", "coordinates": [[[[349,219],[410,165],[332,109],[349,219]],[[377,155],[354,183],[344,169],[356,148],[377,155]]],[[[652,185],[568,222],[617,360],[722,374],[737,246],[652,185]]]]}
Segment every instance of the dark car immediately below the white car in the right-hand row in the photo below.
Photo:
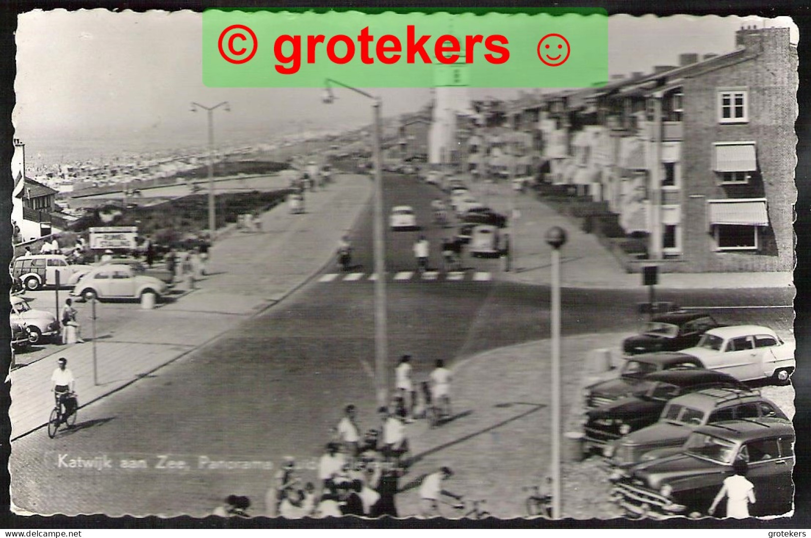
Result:
{"type": "Polygon", "coordinates": [[[586,386],[586,408],[599,408],[601,405],[632,394],[647,374],[676,368],[703,368],[703,365],[696,357],[678,352],[645,353],[626,357],[619,377],[586,386]]]}

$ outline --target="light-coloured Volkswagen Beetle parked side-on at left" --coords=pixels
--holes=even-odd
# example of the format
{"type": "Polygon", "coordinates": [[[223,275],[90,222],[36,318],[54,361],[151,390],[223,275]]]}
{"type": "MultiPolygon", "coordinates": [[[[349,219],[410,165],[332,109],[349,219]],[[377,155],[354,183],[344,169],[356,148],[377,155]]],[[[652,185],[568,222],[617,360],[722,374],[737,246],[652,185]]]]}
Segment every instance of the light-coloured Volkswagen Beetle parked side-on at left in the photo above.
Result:
{"type": "Polygon", "coordinates": [[[168,286],[154,276],[138,275],[132,267],[110,263],[94,267],[75,285],[71,295],[90,300],[98,299],[140,299],[144,293],[154,293],[162,297],[168,286]]]}

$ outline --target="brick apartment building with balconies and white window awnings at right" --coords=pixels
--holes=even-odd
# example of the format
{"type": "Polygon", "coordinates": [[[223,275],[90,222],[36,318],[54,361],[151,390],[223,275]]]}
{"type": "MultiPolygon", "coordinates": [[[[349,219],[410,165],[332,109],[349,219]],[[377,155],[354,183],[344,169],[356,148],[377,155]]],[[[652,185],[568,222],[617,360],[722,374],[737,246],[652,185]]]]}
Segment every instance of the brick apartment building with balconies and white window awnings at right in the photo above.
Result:
{"type": "Polygon", "coordinates": [[[512,113],[540,134],[548,181],[605,203],[626,233],[651,234],[629,270],[794,267],[796,48],[788,28],[744,27],[736,45],[512,113]]]}

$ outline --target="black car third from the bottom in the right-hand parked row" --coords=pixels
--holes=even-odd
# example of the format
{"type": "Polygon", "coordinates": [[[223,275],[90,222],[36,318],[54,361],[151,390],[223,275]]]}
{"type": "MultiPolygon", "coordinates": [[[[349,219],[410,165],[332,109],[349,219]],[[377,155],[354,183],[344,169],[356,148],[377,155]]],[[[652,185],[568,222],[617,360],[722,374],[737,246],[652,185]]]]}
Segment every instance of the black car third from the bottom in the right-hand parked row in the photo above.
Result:
{"type": "Polygon", "coordinates": [[[586,412],[584,449],[602,450],[607,442],[655,424],[668,401],[713,386],[746,390],[731,375],[708,369],[670,369],[647,374],[634,388],[633,395],[586,412]]]}

